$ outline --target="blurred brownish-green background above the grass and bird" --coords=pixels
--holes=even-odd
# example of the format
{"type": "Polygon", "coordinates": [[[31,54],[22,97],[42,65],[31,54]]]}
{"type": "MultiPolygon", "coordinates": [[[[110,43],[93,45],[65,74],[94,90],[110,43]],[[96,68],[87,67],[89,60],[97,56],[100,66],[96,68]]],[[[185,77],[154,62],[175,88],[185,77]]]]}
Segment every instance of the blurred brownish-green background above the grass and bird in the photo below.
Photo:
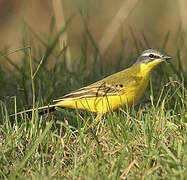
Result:
{"type": "MultiPolygon", "coordinates": [[[[61,37],[61,46],[68,46],[67,56],[71,63],[80,56],[81,44],[88,30],[94,43],[100,49],[104,46],[101,55],[107,61],[115,60],[122,46],[124,52],[138,53],[137,50],[146,48],[162,49],[167,39],[164,51],[176,57],[180,50],[185,70],[186,16],[185,0],[0,0],[0,49],[20,48],[24,39],[27,45],[34,42],[37,47],[34,55],[41,56],[44,48],[41,41],[50,41],[52,33],[60,31],[71,19],[61,37]],[[125,10],[121,12],[120,19],[117,15],[122,8],[125,10]],[[52,32],[50,27],[53,23],[52,32]],[[108,31],[109,35],[105,36],[108,31]],[[38,49],[40,53],[37,53],[38,49]]],[[[62,48],[58,47],[57,51],[62,48]]],[[[90,42],[87,48],[89,58],[93,53],[90,42]]],[[[19,55],[13,56],[19,62],[19,55]]]]}

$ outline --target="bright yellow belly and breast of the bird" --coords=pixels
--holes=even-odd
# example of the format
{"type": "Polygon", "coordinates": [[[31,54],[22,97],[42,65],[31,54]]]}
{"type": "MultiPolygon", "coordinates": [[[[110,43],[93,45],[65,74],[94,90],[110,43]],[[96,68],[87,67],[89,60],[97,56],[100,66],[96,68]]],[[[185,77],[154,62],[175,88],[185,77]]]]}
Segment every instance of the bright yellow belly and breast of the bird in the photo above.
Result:
{"type": "Polygon", "coordinates": [[[110,109],[116,110],[118,107],[131,107],[136,104],[143,96],[149,78],[142,79],[142,82],[132,82],[124,88],[123,95],[81,98],[71,101],[60,101],[56,104],[58,107],[67,107],[73,109],[84,109],[96,113],[106,113],[110,109]]]}

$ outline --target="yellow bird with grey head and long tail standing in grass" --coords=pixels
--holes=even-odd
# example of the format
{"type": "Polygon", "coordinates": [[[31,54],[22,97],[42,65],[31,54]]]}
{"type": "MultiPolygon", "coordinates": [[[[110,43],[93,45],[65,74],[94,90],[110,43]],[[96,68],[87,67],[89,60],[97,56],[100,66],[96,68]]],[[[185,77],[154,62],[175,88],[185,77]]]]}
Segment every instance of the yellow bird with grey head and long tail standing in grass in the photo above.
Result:
{"type": "MultiPolygon", "coordinates": [[[[88,110],[102,115],[109,110],[116,110],[120,106],[131,107],[143,96],[152,70],[168,59],[171,57],[160,51],[145,50],[130,68],[73,91],[54,100],[53,105],[39,107],[38,110],[43,110],[42,112],[46,113],[56,110],[57,107],[63,107],[88,110]]],[[[32,110],[29,109],[16,114],[27,113],[32,110]]]]}

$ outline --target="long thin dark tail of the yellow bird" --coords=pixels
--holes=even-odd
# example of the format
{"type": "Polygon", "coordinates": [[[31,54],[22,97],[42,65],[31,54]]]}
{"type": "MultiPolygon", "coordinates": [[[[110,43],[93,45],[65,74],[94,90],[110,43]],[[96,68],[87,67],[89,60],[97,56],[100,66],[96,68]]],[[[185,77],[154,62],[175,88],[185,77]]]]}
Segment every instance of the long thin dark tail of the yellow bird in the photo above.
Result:
{"type": "MultiPolygon", "coordinates": [[[[55,105],[42,106],[42,107],[39,107],[39,108],[35,108],[34,110],[35,111],[38,110],[38,114],[41,116],[41,115],[44,115],[44,114],[55,111],[56,106],[55,105]]],[[[32,111],[33,111],[33,109],[28,109],[28,110],[21,111],[21,112],[18,112],[18,113],[10,114],[9,117],[13,117],[13,116],[16,116],[16,115],[21,115],[21,114],[24,114],[24,113],[31,113],[32,111]]]]}

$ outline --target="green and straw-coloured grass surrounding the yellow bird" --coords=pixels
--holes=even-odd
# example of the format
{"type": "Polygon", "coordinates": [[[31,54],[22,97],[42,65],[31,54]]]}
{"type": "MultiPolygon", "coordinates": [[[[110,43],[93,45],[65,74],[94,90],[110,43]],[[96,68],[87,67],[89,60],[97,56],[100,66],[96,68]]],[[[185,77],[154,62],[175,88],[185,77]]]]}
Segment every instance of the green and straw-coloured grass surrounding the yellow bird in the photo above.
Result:
{"type": "MultiPolygon", "coordinates": [[[[58,37],[46,44],[42,58],[34,57],[32,46],[19,49],[23,53],[20,66],[4,52],[2,58],[13,68],[5,65],[0,69],[0,178],[185,179],[187,75],[180,53],[178,66],[162,64],[154,71],[146,92],[151,104],[110,112],[94,131],[88,128],[95,115],[85,111],[59,109],[45,116],[33,111],[9,118],[9,113],[46,105],[122,68],[120,55],[113,66],[116,69],[96,61],[85,74],[86,42],[73,71],[67,68],[65,51],[53,55],[54,67],[49,68],[58,37]]],[[[126,57],[129,62],[136,58],[132,54],[126,57]]]]}

